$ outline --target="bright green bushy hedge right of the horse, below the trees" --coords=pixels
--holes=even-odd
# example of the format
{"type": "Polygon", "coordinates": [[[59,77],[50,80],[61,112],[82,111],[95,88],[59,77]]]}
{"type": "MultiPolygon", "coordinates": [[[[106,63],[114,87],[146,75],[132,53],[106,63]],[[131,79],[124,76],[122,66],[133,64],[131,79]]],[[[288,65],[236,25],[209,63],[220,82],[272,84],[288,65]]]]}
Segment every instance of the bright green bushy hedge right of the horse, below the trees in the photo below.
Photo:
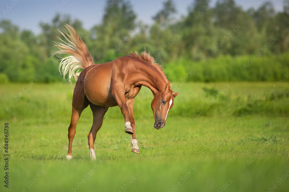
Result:
{"type": "Polygon", "coordinates": [[[188,81],[279,81],[289,71],[289,55],[219,56],[205,61],[180,59],[164,66],[168,79],[180,81],[188,71],[188,81]],[[255,59],[255,58],[257,59],[255,59]]]}

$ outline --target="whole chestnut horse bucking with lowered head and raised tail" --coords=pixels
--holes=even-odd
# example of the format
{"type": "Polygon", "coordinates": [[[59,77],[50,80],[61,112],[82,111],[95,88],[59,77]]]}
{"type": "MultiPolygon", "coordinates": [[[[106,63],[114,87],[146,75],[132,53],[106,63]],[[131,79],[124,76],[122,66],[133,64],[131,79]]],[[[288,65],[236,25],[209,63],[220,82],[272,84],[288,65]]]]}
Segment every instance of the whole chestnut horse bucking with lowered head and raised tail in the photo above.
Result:
{"type": "Polygon", "coordinates": [[[60,58],[59,71],[64,79],[68,75],[66,80],[76,80],[66,158],[72,159],[71,148],[76,125],[88,105],[93,114],[92,127],[87,136],[91,159],[96,159],[94,143],[103,117],[109,107],[115,106],[121,109],[125,119],[125,132],[131,135],[131,151],[140,154],[133,115],[134,98],[140,88],[145,86],[153,93],[151,109],[155,118],[153,126],[157,130],[165,126],[168,112],[174,106],[174,98],[178,94],[171,89],[162,67],[145,51],[140,55],[135,51],[111,62],[95,64],[88,48],[72,26],[65,24],[63,33],[59,32],[67,42],[57,36],[60,42],[54,42],[54,47],[59,50],[53,52],[53,55],[60,58]]]}

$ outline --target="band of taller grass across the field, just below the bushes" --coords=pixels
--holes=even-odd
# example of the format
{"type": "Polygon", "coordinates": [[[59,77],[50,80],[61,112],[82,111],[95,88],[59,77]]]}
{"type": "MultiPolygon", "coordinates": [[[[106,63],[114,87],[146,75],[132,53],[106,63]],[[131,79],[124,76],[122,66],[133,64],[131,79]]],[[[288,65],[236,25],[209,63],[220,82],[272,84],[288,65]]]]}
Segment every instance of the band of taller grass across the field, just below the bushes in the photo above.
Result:
{"type": "MultiPolygon", "coordinates": [[[[279,84],[279,81],[274,83],[193,83],[186,82],[188,79],[184,78],[171,83],[171,88],[180,94],[175,98],[174,107],[170,110],[168,118],[218,115],[239,117],[256,114],[270,117],[289,116],[289,79],[279,84]],[[273,93],[270,93],[271,90],[273,93]]],[[[32,87],[29,83],[6,83],[1,86],[0,93],[3,96],[0,98],[0,107],[4,109],[0,111],[1,118],[40,118],[48,113],[63,118],[71,115],[74,85],[61,83],[45,85],[37,82],[32,87]],[[10,91],[7,92],[7,90],[10,91]],[[23,96],[17,100],[19,93],[23,96]]],[[[134,116],[153,118],[152,99],[151,91],[142,87],[135,98],[134,116]]],[[[90,116],[91,111],[88,107],[81,117],[90,116]]],[[[105,119],[111,118],[123,118],[119,107],[112,107],[108,110],[105,119]]]]}

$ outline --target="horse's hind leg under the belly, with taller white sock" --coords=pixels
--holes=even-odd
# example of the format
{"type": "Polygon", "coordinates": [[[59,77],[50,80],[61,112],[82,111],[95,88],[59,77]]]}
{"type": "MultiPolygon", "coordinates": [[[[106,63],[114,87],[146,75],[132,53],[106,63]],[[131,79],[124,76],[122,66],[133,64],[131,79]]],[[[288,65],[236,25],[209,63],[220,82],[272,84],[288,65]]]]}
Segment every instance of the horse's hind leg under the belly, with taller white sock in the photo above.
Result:
{"type": "Polygon", "coordinates": [[[100,107],[100,106],[90,103],[90,109],[93,114],[93,123],[92,123],[92,127],[87,138],[88,138],[90,158],[96,159],[95,151],[94,151],[94,142],[95,142],[96,134],[102,126],[103,117],[106,111],[108,110],[108,108],[100,107]]]}

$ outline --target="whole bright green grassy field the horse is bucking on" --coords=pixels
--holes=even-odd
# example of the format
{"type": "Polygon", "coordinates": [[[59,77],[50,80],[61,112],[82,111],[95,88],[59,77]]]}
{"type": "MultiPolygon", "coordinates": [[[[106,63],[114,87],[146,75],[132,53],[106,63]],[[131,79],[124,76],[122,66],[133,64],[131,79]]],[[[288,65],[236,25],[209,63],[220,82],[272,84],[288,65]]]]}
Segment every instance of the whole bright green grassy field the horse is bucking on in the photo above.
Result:
{"type": "Polygon", "coordinates": [[[72,85],[1,84],[0,191],[288,191],[289,84],[278,83],[172,83],[180,94],[160,130],[142,88],[134,107],[140,155],[114,107],[97,134],[97,161],[88,150],[89,108],[66,160],[72,85]]]}

